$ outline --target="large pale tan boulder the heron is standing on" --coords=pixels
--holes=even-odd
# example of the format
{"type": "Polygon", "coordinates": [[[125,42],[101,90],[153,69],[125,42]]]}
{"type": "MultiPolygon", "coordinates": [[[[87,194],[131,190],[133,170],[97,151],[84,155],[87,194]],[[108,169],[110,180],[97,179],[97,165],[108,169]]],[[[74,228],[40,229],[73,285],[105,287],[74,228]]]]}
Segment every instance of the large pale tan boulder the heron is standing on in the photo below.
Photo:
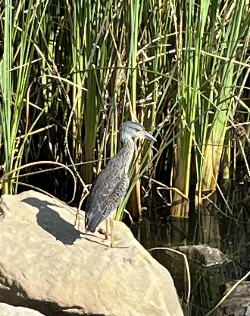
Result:
{"type": "Polygon", "coordinates": [[[45,315],[183,315],[169,272],[122,222],[111,249],[41,193],[3,195],[0,212],[0,301],[45,315]]]}

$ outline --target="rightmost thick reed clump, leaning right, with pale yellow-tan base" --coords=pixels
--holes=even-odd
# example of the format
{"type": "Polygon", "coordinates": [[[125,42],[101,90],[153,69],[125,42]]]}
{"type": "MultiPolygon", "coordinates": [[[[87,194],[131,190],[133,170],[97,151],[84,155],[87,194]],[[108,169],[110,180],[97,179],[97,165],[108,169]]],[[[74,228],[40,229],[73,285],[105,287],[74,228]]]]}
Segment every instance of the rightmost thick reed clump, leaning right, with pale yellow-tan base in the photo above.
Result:
{"type": "Polygon", "coordinates": [[[239,56],[241,61],[244,61],[245,58],[246,51],[238,46],[242,40],[244,41],[244,38],[247,37],[247,32],[249,32],[249,21],[247,23],[247,19],[243,19],[245,4],[245,1],[236,3],[228,2],[228,10],[226,10],[222,21],[225,32],[219,34],[218,56],[215,56],[213,59],[214,64],[220,65],[220,71],[216,71],[213,84],[214,86],[216,86],[217,82],[221,84],[217,88],[218,95],[214,101],[215,110],[207,138],[208,145],[204,153],[203,190],[216,189],[223,142],[228,119],[232,112],[233,96],[236,93],[238,80],[235,79],[240,77],[244,69],[243,67],[235,66],[230,60],[237,58],[237,56],[239,56]],[[229,61],[220,60],[220,57],[226,57],[229,61]],[[211,159],[211,155],[213,159],[211,159]]]}

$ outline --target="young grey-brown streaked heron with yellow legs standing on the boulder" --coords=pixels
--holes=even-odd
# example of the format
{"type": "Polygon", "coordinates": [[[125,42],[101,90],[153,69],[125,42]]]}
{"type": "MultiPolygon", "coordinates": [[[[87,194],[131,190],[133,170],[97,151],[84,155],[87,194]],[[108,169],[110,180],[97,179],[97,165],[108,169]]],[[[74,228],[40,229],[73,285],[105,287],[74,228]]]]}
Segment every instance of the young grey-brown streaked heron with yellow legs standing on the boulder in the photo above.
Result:
{"type": "Polygon", "coordinates": [[[129,186],[128,170],[134,154],[134,139],[156,139],[145,131],[145,127],[135,122],[125,122],[120,127],[122,148],[112,157],[105,169],[98,175],[86,204],[86,231],[94,232],[97,226],[106,220],[106,239],[109,238],[109,220],[111,247],[114,247],[113,213],[125,197],[129,186]]]}

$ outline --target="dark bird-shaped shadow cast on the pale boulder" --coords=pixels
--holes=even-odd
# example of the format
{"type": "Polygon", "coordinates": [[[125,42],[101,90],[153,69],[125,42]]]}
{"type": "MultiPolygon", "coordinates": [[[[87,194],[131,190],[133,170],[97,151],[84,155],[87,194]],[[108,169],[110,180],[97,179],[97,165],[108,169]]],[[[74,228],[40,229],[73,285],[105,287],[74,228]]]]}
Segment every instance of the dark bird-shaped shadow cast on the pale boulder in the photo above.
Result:
{"type": "Polygon", "coordinates": [[[38,225],[57,240],[60,240],[64,245],[73,245],[76,239],[81,238],[80,231],[75,229],[74,225],[65,221],[57,211],[49,207],[60,207],[60,205],[39,200],[36,197],[27,197],[21,202],[38,208],[39,212],[36,215],[38,225]]]}

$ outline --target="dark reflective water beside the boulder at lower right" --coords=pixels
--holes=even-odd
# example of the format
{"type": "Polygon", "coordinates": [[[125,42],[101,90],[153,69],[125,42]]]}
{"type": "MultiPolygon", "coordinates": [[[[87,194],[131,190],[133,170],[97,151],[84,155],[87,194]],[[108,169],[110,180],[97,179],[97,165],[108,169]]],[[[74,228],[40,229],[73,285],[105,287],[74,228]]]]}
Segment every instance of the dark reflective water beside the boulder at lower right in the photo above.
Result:
{"type": "MultiPolygon", "coordinates": [[[[250,195],[248,183],[234,188],[227,202],[217,194],[213,201],[190,211],[188,219],[169,216],[168,208],[146,211],[134,236],[146,248],[207,244],[220,249],[229,259],[221,265],[190,265],[191,300],[187,304],[187,274],[183,256],[165,250],[152,255],[171,273],[185,316],[208,313],[225,294],[226,283],[241,279],[250,270],[250,195]]],[[[250,278],[248,278],[250,280],[250,278]]],[[[250,293],[249,293],[250,295],[250,293]]],[[[240,302],[239,302],[240,304],[240,302]]],[[[224,315],[218,308],[212,315],[224,315]]],[[[233,315],[233,314],[232,314],[233,315]]]]}

